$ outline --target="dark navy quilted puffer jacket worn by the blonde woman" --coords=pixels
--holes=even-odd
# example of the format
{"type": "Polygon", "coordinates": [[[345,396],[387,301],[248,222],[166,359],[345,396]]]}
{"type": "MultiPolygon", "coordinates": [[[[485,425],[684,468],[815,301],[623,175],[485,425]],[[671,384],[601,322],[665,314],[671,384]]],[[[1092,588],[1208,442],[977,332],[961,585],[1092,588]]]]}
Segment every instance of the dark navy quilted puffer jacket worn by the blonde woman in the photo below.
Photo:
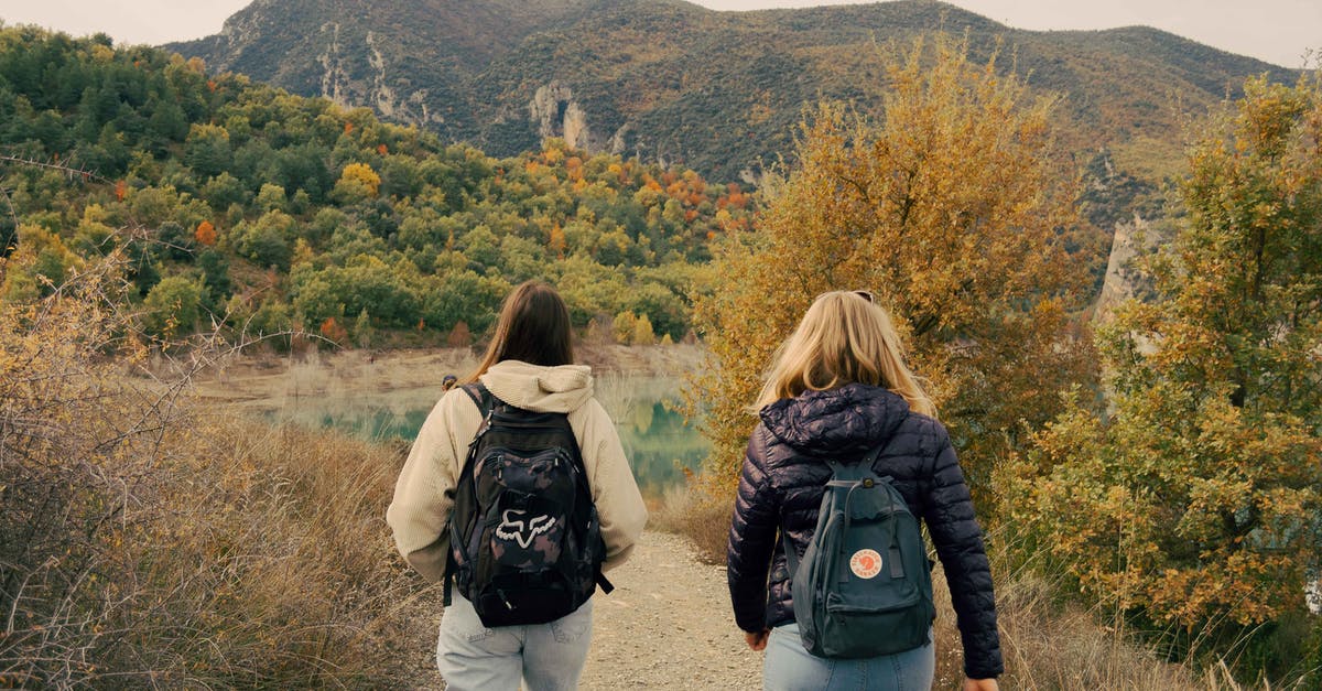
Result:
{"type": "Polygon", "coordinates": [[[982,530],[951,438],[936,420],[911,413],[904,398],[863,384],[806,392],[761,409],[748,439],[730,528],[727,569],[735,621],[760,631],[795,621],[780,531],[804,553],[830,467],[884,445],[874,463],[895,478],[910,511],[927,523],[945,569],[972,679],[1003,671],[992,571],[982,530]],[[768,582],[769,572],[769,582],[768,582]]]}

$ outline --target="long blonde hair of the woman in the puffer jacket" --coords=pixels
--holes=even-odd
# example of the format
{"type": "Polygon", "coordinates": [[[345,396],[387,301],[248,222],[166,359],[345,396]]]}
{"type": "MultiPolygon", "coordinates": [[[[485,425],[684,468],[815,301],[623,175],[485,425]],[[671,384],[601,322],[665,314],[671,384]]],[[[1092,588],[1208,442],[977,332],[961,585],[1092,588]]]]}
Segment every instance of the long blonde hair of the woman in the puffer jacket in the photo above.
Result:
{"type": "Polygon", "coordinates": [[[904,364],[899,332],[886,310],[861,293],[825,293],[776,351],[755,406],[853,383],[886,387],[908,401],[911,410],[936,416],[932,400],[904,364]]]}

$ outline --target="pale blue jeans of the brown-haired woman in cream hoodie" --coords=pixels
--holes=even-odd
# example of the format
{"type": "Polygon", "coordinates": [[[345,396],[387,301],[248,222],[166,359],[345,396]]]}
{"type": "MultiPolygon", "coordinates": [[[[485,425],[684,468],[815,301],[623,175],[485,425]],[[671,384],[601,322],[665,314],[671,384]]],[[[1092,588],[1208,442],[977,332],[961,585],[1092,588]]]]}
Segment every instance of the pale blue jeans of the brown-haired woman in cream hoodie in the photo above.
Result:
{"type": "Polygon", "coordinates": [[[592,601],[550,623],[483,626],[472,602],[455,593],[440,618],[436,665],[451,691],[578,687],[592,639],[592,601]]]}

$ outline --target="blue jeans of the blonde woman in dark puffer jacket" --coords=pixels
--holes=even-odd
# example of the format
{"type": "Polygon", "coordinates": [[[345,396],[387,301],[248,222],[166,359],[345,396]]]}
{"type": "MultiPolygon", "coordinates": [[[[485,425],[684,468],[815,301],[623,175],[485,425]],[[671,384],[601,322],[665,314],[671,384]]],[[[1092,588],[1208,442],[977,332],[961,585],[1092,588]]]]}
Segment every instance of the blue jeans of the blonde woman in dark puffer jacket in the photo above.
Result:
{"type": "Polygon", "coordinates": [[[798,625],[771,630],[761,684],[767,691],[931,691],[936,646],[862,659],[818,658],[804,649],[798,625]]]}

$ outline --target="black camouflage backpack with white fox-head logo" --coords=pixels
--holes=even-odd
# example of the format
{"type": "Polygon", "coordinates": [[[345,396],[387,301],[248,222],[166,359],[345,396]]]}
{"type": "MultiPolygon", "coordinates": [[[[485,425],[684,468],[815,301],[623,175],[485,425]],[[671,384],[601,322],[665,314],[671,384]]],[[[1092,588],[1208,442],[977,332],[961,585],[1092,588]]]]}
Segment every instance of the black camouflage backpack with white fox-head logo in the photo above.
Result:
{"type": "Polygon", "coordinates": [[[455,488],[446,605],[459,586],[484,626],[546,623],[587,602],[605,543],[564,413],[508,405],[483,384],[464,392],[484,422],[455,488]]]}

